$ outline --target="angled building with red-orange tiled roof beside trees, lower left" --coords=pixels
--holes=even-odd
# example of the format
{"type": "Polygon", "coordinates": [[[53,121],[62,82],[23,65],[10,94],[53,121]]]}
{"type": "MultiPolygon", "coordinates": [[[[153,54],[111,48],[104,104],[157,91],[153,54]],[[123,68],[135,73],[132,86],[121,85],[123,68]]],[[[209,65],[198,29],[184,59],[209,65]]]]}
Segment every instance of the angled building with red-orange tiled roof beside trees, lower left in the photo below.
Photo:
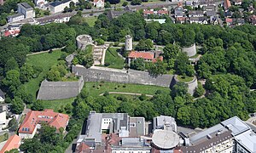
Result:
{"type": "Polygon", "coordinates": [[[68,115],[56,113],[53,110],[29,111],[20,125],[18,133],[21,139],[32,139],[37,132],[37,128],[41,127],[40,124],[42,122],[56,127],[57,131],[59,131],[60,128],[65,130],[68,120],[68,115]]]}

